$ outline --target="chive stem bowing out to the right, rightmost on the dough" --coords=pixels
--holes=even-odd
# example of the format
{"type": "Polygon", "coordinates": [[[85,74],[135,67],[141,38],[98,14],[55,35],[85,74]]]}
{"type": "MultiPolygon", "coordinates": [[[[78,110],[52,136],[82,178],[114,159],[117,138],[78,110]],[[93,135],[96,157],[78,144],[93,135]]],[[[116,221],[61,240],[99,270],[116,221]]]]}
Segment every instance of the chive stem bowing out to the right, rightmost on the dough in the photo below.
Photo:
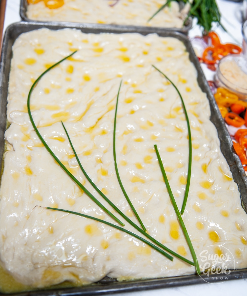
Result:
{"type": "Polygon", "coordinates": [[[187,174],[187,182],[186,182],[186,187],[185,187],[185,196],[184,196],[184,201],[182,204],[182,208],[181,208],[181,214],[184,213],[185,211],[185,206],[186,206],[186,202],[188,199],[188,194],[189,194],[189,188],[190,188],[190,178],[191,178],[191,163],[192,163],[192,141],[191,141],[191,132],[190,132],[190,121],[189,121],[189,117],[185,108],[185,103],[184,100],[177,88],[177,86],[163,73],[161,72],[161,70],[159,70],[158,68],[156,68],[154,65],[152,65],[157,71],[159,71],[167,80],[169,80],[171,82],[171,84],[174,86],[174,88],[176,89],[177,93],[179,94],[179,97],[181,99],[182,102],[182,106],[184,109],[184,113],[185,113],[185,118],[187,121],[187,127],[188,127],[188,138],[189,138],[189,163],[188,163],[188,174],[187,174]]]}

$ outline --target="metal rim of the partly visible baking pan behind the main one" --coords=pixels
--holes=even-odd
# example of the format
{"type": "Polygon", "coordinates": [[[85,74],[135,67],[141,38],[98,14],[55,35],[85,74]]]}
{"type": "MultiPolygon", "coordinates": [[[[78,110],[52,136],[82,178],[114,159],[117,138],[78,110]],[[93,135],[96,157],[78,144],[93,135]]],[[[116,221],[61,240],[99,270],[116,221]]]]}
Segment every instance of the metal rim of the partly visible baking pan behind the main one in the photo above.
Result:
{"type": "MultiPolygon", "coordinates": [[[[180,9],[184,6],[184,3],[181,1],[179,3],[180,9]]],[[[40,21],[36,20],[31,20],[30,18],[27,17],[27,9],[28,9],[28,2],[27,0],[21,0],[20,1],[20,17],[26,21],[26,22],[36,22],[36,23],[41,23],[40,21]]],[[[44,22],[44,21],[43,21],[44,22]]],[[[46,22],[46,21],[45,21],[46,22]]],[[[68,22],[58,22],[58,21],[47,21],[46,22],[49,25],[71,25],[71,23],[68,22]]],[[[78,23],[73,23],[78,25],[78,23]]],[[[111,30],[113,28],[114,30],[119,30],[119,31],[125,31],[125,32],[139,32],[142,30],[145,30],[148,33],[159,33],[162,32],[163,30],[169,30],[171,32],[180,32],[185,35],[188,34],[189,30],[192,27],[192,18],[189,17],[188,20],[185,22],[185,25],[182,28],[164,28],[164,27],[145,27],[145,26],[134,26],[134,25],[111,25],[111,24],[94,24],[94,23],[81,23],[84,27],[91,27],[94,29],[104,29],[104,30],[111,30]]]]}

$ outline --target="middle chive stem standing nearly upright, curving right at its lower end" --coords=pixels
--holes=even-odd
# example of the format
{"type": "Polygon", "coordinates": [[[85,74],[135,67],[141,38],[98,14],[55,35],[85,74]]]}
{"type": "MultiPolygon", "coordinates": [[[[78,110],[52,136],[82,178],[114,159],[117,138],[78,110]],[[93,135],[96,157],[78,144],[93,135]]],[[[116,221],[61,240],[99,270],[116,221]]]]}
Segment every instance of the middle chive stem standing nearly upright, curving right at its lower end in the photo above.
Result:
{"type": "Polygon", "coordinates": [[[121,84],[122,84],[122,81],[120,82],[119,89],[118,89],[117,102],[116,102],[116,110],[115,110],[115,116],[114,116],[114,128],[113,128],[113,158],[114,158],[114,165],[115,165],[116,175],[117,175],[117,178],[118,178],[118,183],[119,183],[119,185],[120,185],[120,187],[122,189],[122,192],[123,192],[123,194],[124,194],[127,202],[129,203],[129,205],[130,205],[133,213],[135,214],[137,220],[139,221],[140,225],[142,226],[142,229],[144,231],[147,231],[147,229],[145,228],[144,224],[142,223],[141,218],[137,214],[136,209],[132,205],[132,202],[129,199],[128,194],[126,193],[126,191],[124,189],[123,183],[122,183],[122,181],[120,179],[119,172],[118,172],[118,165],[117,165],[117,159],[116,159],[116,122],[117,122],[117,110],[118,110],[118,97],[119,97],[119,92],[120,92],[121,84]]]}

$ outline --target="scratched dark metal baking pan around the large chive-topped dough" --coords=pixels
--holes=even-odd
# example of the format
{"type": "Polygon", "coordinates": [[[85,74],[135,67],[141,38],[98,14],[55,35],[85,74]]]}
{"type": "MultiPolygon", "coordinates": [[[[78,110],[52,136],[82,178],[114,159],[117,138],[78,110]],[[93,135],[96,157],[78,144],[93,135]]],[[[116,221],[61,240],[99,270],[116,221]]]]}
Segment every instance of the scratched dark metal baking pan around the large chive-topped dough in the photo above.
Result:
{"type": "MultiPolygon", "coordinates": [[[[49,28],[51,30],[59,30],[65,28],[65,26],[58,25],[48,25],[47,23],[36,23],[36,22],[20,22],[10,25],[5,33],[2,53],[1,53],[1,68],[0,68],[0,159],[3,158],[4,153],[4,131],[6,130],[6,103],[7,103],[7,94],[8,94],[8,81],[9,81],[9,71],[10,71],[10,62],[12,58],[12,45],[16,38],[24,32],[29,32],[32,30],[37,30],[40,28],[49,28]]],[[[99,29],[99,28],[88,28],[84,25],[75,25],[70,24],[67,25],[66,28],[77,28],[84,33],[101,33],[101,32],[111,32],[111,33],[126,33],[129,30],[119,32],[116,28],[109,29],[99,29]]],[[[142,30],[139,32],[143,35],[147,35],[150,31],[142,30]]],[[[163,37],[174,37],[182,41],[189,52],[189,57],[191,62],[195,65],[195,68],[198,72],[198,84],[201,87],[202,91],[207,94],[210,108],[211,108],[211,121],[216,126],[218,131],[218,136],[220,140],[221,151],[226,158],[230,170],[232,172],[233,178],[235,182],[238,184],[238,188],[241,195],[241,201],[243,208],[247,209],[247,178],[245,171],[243,170],[243,166],[240,163],[238,156],[233,152],[232,141],[227,132],[224,121],[220,115],[219,109],[215,103],[214,96],[212,95],[206,78],[201,70],[200,64],[198,62],[197,57],[192,49],[190,41],[187,37],[178,32],[171,32],[170,30],[163,30],[163,32],[159,33],[160,36],[163,37]]],[[[247,220],[247,217],[246,217],[247,220]]],[[[0,226],[1,227],[1,226],[0,226]]],[[[164,287],[174,287],[181,285],[190,285],[190,284],[200,284],[205,283],[203,278],[205,278],[208,282],[215,281],[214,275],[203,275],[200,278],[196,274],[186,275],[186,276],[175,276],[175,277],[167,277],[167,278],[159,278],[159,279],[144,279],[144,280],[136,280],[136,281],[123,281],[118,282],[116,279],[111,279],[105,277],[101,281],[83,286],[83,287],[70,287],[70,288],[59,288],[52,287],[51,289],[46,290],[38,290],[38,291],[30,291],[30,292],[21,292],[19,294],[10,294],[10,295],[25,295],[25,296],[53,296],[53,295],[61,295],[61,296],[80,296],[80,295],[103,295],[109,293],[119,293],[119,292],[131,292],[131,291],[140,291],[147,289],[160,289],[164,287]]],[[[243,279],[247,278],[247,268],[238,269],[232,271],[228,275],[228,280],[230,279],[243,279]]],[[[219,278],[219,280],[221,280],[219,278]]],[[[224,280],[222,278],[222,280],[224,280]]],[[[0,292],[0,295],[1,294],[0,292]]]]}

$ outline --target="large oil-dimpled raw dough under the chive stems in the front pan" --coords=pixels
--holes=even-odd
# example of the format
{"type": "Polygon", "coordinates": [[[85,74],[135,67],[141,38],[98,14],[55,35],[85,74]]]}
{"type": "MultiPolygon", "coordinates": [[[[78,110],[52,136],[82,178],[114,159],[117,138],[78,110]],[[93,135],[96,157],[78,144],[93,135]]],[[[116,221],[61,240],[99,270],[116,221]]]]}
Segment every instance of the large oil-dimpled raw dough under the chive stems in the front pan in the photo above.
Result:
{"type": "MultiPolygon", "coordinates": [[[[228,268],[247,266],[246,213],[238,186],[219,149],[206,95],[185,46],[155,34],[84,34],[41,29],[22,34],[13,46],[1,179],[1,265],[15,280],[44,287],[65,280],[92,283],[193,274],[194,266],[170,261],[138,239],[105,224],[47,210],[58,207],[117,224],[57,165],[37,137],[27,96],[41,135],[61,162],[110,211],[81,172],[63,121],[84,169],[99,189],[138,224],[118,184],[113,161],[113,122],[120,82],[116,158],[121,180],[148,233],[192,260],[154,150],[157,144],[179,209],[188,168],[185,101],[192,133],[192,177],[183,215],[196,255],[208,246],[231,256],[228,268]],[[39,206],[39,207],[37,207],[39,206]]],[[[124,221],[125,222],[125,221],[124,221]]],[[[125,223],[125,229],[138,232],[125,223]]],[[[199,258],[199,263],[200,258],[199,258]]]]}

